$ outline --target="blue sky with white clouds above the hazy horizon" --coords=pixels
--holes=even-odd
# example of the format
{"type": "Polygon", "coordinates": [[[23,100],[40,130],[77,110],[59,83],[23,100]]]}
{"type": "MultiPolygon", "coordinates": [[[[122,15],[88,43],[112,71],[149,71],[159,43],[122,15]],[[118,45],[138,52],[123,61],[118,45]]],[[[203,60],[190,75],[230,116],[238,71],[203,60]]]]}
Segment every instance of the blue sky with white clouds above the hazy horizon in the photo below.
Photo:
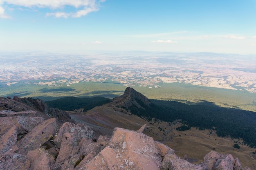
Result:
{"type": "Polygon", "coordinates": [[[256,0],[0,0],[0,51],[256,54],[256,0]]]}

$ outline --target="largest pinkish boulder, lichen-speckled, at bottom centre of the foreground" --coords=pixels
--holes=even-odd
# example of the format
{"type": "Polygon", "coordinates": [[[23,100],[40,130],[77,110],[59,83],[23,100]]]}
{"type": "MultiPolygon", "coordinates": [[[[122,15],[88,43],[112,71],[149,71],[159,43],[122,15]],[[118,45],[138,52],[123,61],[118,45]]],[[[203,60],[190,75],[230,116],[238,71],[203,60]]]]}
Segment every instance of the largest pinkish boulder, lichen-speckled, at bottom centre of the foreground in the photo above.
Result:
{"type": "Polygon", "coordinates": [[[115,128],[108,146],[83,168],[104,170],[159,170],[161,157],[152,137],[115,128]]]}

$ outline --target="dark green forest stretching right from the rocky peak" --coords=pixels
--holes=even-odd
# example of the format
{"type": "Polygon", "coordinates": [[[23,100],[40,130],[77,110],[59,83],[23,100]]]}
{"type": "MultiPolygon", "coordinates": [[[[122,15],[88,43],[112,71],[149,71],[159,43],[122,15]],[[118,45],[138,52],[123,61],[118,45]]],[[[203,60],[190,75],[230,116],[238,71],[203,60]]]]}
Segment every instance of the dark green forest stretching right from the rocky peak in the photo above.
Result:
{"type": "MultiPolygon", "coordinates": [[[[136,99],[135,99],[136,100],[136,99]]],[[[220,137],[242,138],[250,147],[256,147],[256,113],[236,108],[223,108],[211,102],[202,101],[197,104],[184,104],[174,101],[150,99],[150,107],[136,100],[143,108],[126,108],[132,114],[150,121],[156,118],[166,122],[182,120],[186,126],[177,130],[187,130],[190,127],[199,130],[216,130],[220,137]]]]}

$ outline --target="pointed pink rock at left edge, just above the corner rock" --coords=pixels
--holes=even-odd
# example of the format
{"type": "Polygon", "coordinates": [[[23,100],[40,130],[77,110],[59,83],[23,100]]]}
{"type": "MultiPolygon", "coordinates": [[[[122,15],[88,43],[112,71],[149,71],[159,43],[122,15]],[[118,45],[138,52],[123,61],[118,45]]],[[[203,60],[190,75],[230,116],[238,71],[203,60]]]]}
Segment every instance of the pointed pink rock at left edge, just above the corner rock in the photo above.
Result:
{"type": "Polygon", "coordinates": [[[5,152],[15,152],[17,146],[17,128],[12,126],[9,130],[0,137],[0,155],[5,152]]]}

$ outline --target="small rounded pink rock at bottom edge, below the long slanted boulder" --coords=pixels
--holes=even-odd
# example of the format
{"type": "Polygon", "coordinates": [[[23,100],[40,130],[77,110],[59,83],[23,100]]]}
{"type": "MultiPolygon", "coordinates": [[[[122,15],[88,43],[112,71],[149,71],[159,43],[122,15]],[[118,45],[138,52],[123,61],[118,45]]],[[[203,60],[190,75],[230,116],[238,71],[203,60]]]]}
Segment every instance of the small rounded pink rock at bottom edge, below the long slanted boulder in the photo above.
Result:
{"type": "Polygon", "coordinates": [[[55,158],[42,148],[29,151],[27,157],[31,161],[30,168],[33,170],[49,170],[50,166],[55,162],[55,158]]]}

